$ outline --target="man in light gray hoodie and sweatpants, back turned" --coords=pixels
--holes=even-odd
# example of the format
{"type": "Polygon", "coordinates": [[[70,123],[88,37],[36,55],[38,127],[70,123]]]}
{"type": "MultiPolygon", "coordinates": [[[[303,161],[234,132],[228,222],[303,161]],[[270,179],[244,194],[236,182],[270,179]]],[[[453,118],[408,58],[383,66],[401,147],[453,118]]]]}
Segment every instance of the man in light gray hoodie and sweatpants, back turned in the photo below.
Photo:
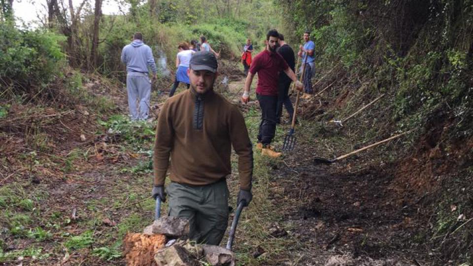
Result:
{"type": "Polygon", "coordinates": [[[146,120],[149,113],[149,98],[151,96],[151,80],[148,66],[156,79],[156,64],[153,53],[148,45],[143,43],[143,35],[135,33],[132,43],[122,50],[122,62],[127,65],[128,107],[132,120],[146,120]],[[139,102],[139,112],[136,101],[139,102]]]}

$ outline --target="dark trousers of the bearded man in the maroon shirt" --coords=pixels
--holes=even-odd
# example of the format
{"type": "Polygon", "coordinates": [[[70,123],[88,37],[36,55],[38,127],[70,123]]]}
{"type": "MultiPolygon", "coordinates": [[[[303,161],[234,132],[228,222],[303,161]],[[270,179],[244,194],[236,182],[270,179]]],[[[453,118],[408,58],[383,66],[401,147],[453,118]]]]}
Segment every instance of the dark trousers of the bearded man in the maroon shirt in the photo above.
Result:
{"type": "Polygon", "coordinates": [[[276,134],[276,112],[277,112],[277,96],[256,95],[260,102],[261,123],[258,133],[258,142],[266,146],[271,143],[276,134]]]}

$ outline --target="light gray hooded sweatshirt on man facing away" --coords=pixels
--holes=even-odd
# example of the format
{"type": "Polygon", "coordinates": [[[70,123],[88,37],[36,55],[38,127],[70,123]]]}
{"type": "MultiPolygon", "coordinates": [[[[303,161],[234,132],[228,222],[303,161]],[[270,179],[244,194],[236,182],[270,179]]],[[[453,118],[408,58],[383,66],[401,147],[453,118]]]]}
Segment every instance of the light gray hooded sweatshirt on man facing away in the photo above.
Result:
{"type": "Polygon", "coordinates": [[[127,65],[127,72],[148,73],[148,66],[156,74],[156,64],[154,63],[151,48],[144,44],[142,40],[133,40],[122,50],[122,62],[127,65]]]}

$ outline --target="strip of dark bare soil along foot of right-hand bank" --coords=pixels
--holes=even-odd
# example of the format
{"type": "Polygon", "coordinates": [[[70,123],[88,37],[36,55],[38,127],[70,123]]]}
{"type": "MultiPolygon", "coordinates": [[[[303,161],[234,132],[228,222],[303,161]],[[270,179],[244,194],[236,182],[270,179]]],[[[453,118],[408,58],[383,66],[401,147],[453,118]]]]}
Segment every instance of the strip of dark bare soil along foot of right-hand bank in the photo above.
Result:
{"type": "MultiPolygon", "coordinates": [[[[231,83],[230,90],[241,84],[231,83]]],[[[270,163],[268,198],[281,217],[278,227],[287,233],[276,237],[296,244],[265,265],[415,266],[414,260],[425,265],[427,251],[416,242],[411,222],[419,218],[417,206],[393,196],[393,177],[376,167],[347,174],[347,162],[314,165],[320,148],[306,134],[310,130],[299,128],[296,150],[270,163]]]]}

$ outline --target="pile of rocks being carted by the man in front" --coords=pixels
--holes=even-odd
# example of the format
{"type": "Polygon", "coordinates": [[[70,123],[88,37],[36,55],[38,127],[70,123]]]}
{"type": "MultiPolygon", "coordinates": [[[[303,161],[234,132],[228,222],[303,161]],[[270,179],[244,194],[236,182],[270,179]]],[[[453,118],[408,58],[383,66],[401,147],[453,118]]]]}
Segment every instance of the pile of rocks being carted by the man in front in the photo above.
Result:
{"type": "Polygon", "coordinates": [[[235,255],[223,247],[185,240],[189,221],[160,218],[143,233],[128,233],[124,255],[128,266],[234,266],[235,255]]]}

